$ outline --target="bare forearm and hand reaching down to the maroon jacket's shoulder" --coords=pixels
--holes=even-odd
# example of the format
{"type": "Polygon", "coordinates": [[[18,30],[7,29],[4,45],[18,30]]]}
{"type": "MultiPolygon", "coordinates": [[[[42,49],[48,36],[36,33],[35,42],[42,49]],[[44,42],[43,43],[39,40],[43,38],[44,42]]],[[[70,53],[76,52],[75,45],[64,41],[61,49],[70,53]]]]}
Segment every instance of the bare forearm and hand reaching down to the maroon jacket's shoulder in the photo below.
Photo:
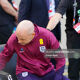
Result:
{"type": "Polygon", "coordinates": [[[56,25],[59,23],[62,15],[60,13],[55,13],[54,16],[50,19],[47,29],[53,30],[56,25]]]}

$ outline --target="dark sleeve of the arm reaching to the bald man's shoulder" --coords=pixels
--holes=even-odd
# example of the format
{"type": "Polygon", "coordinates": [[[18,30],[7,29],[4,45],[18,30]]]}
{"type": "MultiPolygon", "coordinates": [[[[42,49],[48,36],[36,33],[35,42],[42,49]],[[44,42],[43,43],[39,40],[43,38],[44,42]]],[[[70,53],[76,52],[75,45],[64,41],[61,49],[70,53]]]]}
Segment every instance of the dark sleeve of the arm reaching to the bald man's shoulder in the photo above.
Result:
{"type": "Polygon", "coordinates": [[[58,8],[56,10],[57,13],[60,13],[61,15],[64,15],[66,12],[68,6],[69,6],[69,0],[60,0],[60,3],[58,5],[58,8]]]}

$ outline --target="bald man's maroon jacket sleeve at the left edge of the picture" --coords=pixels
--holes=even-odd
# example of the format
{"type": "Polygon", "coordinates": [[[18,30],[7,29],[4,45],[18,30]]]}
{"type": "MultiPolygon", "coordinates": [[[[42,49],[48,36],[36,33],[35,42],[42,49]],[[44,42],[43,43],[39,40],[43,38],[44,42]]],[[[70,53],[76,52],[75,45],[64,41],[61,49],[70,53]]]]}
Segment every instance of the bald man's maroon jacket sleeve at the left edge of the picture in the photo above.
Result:
{"type": "Polygon", "coordinates": [[[6,63],[10,60],[13,53],[15,52],[12,38],[13,36],[9,38],[3,51],[0,53],[0,70],[2,70],[5,67],[6,63]]]}

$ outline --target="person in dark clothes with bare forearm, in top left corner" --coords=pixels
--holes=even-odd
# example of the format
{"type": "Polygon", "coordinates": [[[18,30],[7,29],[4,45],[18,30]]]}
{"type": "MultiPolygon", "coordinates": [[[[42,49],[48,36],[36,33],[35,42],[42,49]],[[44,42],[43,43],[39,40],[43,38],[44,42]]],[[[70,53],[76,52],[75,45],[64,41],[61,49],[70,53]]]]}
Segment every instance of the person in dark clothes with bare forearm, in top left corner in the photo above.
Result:
{"type": "Polygon", "coordinates": [[[12,34],[17,18],[12,0],[0,0],[0,44],[5,44],[12,34]]]}

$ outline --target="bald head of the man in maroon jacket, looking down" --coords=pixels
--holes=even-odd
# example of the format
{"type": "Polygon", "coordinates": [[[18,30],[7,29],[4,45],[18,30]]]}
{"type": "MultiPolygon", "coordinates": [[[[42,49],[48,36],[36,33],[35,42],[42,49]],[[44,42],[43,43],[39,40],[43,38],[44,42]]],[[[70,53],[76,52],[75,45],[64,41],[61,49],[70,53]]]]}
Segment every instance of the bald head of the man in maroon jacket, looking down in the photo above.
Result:
{"type": "Polygon", "coordinates": [[[18,42],[22,45],[29,43],[34,38],[34,24],[29,20],[21,21],[16,29],[18,42]]]}

